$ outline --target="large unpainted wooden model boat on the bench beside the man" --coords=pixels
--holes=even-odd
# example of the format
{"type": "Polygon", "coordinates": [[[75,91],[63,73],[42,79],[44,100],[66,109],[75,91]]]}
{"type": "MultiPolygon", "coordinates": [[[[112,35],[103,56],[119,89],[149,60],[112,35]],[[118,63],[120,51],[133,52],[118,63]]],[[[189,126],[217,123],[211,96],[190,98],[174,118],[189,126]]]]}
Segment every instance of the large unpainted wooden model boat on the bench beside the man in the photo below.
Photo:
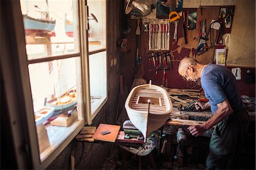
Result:
{"type": "Polygon", "coordinates": [[[172,102],[168,92],[157,85],[139,85],[133,88],[126,99],[125,109],[130,121],[144,136],[157,130],[170,116],[172,102]]]}

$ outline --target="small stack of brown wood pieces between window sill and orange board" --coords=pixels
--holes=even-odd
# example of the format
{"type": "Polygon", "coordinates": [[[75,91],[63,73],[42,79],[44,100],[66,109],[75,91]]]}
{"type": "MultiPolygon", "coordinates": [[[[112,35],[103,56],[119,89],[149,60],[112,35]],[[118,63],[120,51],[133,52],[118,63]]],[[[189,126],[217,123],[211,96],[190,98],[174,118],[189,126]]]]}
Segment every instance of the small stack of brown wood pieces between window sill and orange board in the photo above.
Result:
{"type": "Polygon", "coordinates": [[[82,128],[80,133],[76,136],[76,140],[94,142],[94,139],[92,138],[92,136],[95,131],[96,131],[95,126],[85,126],[84,128],[82,128]]]}

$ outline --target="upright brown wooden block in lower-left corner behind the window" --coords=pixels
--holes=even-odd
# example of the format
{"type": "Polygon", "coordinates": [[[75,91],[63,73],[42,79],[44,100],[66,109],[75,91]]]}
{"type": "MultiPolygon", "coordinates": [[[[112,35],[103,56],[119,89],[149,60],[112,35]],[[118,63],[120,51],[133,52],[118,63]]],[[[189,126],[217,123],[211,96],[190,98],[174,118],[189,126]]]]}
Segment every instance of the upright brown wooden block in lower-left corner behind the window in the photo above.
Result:
{"type": "Polygon", "coordinates": [[[38,134],[38,144],[40,154],[50,146],[46,127],[42,123],[36,126],[36,133],[38,134]]]}

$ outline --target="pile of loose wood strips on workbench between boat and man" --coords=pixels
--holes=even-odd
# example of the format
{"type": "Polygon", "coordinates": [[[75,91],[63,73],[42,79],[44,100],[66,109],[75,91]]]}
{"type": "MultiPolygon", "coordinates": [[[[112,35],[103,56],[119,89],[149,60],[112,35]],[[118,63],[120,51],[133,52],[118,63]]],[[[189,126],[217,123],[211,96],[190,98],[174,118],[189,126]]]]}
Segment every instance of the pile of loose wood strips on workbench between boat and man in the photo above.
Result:
{"type": "Polygon", "coordinates": [[[196,89],[167,89],[167,92],[172,99],[172,105],[174,107],[179,107],[179,105],[185,107],[199,98],[205,98],[200,90],[196,89]]]}

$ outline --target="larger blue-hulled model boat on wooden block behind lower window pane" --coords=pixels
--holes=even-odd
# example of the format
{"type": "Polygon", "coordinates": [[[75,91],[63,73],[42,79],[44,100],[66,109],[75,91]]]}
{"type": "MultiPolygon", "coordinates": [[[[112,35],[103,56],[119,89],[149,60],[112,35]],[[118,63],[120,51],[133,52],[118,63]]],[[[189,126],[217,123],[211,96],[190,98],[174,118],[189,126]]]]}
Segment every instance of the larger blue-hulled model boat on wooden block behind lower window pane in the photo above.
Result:
{"type": "MultiPolygon", "coordinates": [[[[46,99],[47,100],[47,99],[46,99]]],[[[46,101],[45,106],[53,107],[54,113],[48,119],[48,121],[52,121],[60,114],[68,113],[68,111],[73,111],[76,109],[77,105],[77,93],[76,89],[71,89],[62,94],[59,97],[55,97],[46,101]]]]}

